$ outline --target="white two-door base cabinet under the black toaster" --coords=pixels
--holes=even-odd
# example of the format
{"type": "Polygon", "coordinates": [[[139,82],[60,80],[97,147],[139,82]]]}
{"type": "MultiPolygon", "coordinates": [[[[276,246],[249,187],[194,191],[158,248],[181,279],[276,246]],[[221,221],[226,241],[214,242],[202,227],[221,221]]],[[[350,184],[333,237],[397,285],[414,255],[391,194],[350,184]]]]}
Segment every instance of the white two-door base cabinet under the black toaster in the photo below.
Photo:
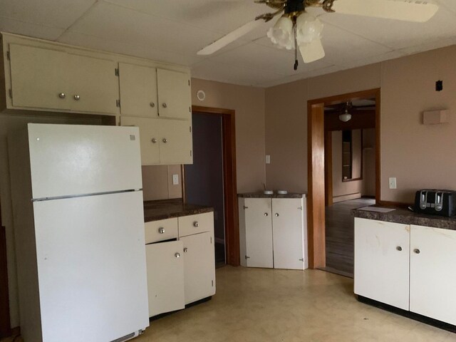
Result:
{"type": "Polygon", "coordinates": [[[355,219],[355,294],[456,325],[456,231],[355,219]]]}

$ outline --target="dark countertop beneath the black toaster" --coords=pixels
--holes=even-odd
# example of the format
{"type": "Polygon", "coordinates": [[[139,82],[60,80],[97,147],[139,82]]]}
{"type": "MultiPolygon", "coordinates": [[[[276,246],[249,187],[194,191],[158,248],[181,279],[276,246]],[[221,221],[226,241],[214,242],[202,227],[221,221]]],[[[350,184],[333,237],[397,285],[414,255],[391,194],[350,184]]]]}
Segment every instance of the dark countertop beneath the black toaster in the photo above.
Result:
{"type": "MultiPolygon", "coordinates": [[[[384,207],[375,205],[372,207],[384,207]]],[[[403,224],[415,224],[417,226],[433,227],[456,230],[456,217],[442,217],[437,215],[418,214],[408,209],[395,208],[393,212],[370,212],[366,210],[353,209],[351,214],[354,217],[363,219],[377,219],[378,221],[395,222],[403,224]]]]}

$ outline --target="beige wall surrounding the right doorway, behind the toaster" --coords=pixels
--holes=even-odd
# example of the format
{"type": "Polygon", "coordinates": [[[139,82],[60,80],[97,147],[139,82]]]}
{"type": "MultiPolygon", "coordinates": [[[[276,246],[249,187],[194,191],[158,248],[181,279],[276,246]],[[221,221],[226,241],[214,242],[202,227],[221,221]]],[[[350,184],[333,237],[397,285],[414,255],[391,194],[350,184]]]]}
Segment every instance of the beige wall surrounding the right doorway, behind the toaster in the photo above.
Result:
{"type": "Polygon", "coordinates": [[[381,87],[380,198],[410,203],[415,190],[423,187],[455,189],[455,120],[450,115],[448,124],[422,124],[423,110],[445,108],[455,115],[455,60],[456,46],[450,46],[266,89],[266,149],[281,155],[280,162],[271,155],[271,165],[266,167],[268,184],[307,190],[307,158],[302,157],[307,148],[307,100],[381,87]],[[444,81],[440,93],[435,92],[437,80],[444,81]],[[289,120],[283,125],[296,124],[299,130],[276,130],[280,119],[275,115],[289,120]],[[295,142],[292,152],[289,144],[281,146],[282,141],[295,142]],[[388,189],[388,177],[397,178],[398,189],[388,189]]]}

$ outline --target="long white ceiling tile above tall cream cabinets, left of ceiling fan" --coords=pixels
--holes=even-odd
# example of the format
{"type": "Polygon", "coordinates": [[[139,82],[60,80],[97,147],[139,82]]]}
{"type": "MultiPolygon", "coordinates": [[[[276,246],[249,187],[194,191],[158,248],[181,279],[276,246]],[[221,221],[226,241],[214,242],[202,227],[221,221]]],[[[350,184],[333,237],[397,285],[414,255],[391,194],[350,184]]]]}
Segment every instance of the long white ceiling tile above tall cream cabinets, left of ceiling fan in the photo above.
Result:
{"type": "Polygon", "coordinates": [[[219,37],[200,28],[104,2],[98,3],[70,31],[189,55],[219,37]]]}

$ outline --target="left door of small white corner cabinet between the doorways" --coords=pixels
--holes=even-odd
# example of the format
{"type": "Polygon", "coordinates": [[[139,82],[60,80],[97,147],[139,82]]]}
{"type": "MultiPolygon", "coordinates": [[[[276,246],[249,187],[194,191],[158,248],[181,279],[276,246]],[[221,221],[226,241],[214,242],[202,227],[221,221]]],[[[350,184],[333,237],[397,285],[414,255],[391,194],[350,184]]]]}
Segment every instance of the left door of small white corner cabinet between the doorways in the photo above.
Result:
{"type": "Polygon", "coordinates": [[[273,268],[270,198],[246,198],[245,240],[248,267],[273,268]]]}

